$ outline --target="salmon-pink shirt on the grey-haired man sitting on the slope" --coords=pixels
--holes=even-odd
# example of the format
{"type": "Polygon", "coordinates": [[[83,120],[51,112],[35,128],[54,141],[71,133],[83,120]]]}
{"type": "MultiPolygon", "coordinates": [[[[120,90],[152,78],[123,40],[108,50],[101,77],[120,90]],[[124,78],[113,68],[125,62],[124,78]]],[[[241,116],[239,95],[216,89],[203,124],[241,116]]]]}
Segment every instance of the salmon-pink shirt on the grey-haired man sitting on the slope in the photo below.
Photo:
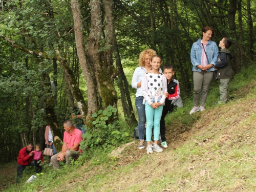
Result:
{"type": "MultiPolygon", "coordinates": [[[[78,130],[74,129],[73,133],[70,134],[68,132],[64,132],[64,138],[63,138],[63,142],[67,143],[67,148],[66,148],[66,151],[68,148],[72,148],[74,146],[74,143],[80,143],[81,140],[82,140],[82,132],[81,130],[78,130]]],[[[78,150],[79,151],[79,148],[78,150]]]]}

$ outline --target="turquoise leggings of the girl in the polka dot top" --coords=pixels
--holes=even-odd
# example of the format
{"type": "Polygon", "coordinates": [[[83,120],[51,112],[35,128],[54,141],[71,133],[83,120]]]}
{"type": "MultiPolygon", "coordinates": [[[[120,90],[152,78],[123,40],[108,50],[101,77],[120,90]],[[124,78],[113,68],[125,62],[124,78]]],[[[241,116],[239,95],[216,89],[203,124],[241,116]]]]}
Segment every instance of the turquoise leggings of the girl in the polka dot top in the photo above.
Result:
{"type": "Polygon", "coordinates": [[[160,120],[163,112],[163,105],[158,109],[154,109],[147,102],[145,103],[146,111],[146,141],[151,141],[152,128],[154,125],[154,140],[159,140],[160,135],[160,120]]]}

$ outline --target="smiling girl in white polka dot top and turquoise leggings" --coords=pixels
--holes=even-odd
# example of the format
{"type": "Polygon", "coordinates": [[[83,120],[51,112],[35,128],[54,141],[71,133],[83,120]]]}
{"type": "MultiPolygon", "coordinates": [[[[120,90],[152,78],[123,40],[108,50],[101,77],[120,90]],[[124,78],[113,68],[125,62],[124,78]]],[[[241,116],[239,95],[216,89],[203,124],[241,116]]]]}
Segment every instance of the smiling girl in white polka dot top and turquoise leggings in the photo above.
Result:
{"type": "Polygon", "coordinates": [[[164,93],[167,92],[166,77],[159,72],[162,59],[159,55],[151,58],[152,70],[145,73],[141,81],[141,92],[144,97],[146,111],[146,142],[147,154],[162,152],[163,149],[157,144],[160,134],[160,120],[165,101],[164,93]],[[152,128],[154,125],[154,144],[151,145],[152,128]]]}

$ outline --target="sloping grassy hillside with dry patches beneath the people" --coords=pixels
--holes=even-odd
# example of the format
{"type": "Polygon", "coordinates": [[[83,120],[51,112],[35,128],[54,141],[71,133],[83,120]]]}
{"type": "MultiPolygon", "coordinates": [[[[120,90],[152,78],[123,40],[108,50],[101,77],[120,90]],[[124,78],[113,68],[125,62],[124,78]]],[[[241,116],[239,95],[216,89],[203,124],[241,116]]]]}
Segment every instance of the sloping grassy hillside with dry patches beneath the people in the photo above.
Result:
{"type": "Polygon", "coordinates": [[[189,115],[193,102],[183,99],[184,108],[166,116],[168,148],[162,153],[147,155],[131,139],[120,154],[95,154],[55,172],[45,167],[29,184],[28,170],[6,191],[256,191],[255,74],[252,66],[233,78],[235,99],[220,106],[214,105],[214,82],[204,112],[189,115]]]}

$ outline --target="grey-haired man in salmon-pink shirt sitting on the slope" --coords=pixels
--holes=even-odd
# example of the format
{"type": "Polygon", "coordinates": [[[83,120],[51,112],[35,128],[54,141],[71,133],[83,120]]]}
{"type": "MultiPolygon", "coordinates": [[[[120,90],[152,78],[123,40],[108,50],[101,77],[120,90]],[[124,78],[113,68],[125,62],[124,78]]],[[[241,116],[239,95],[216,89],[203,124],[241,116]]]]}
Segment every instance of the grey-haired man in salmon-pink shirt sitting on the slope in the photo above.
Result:
{"type": "Polygon", "coordinates": [[[60,168],[60,161],[66,159],[66,165],[69,165],[71,158],[77,159],[79,157],[79,143],[82,140],[82,132],[74,127],[71,120],[66,120],[63,126],[65,132],[61,152],[51,157],[54,170],[60,168]]]}

